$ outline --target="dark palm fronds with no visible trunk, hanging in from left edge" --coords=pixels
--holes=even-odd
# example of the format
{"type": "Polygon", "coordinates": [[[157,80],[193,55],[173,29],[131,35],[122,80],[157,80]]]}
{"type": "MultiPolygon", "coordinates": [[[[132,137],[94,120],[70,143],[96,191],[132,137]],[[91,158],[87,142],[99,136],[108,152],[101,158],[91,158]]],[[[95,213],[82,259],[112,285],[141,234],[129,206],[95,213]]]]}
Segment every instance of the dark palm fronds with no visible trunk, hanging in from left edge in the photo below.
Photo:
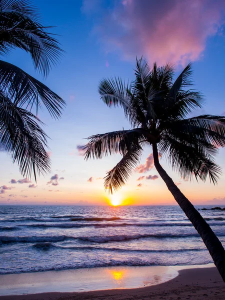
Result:
{"type": "MultiPolygon", "coordinates": [[[[44,78],[62,53],[47,28],[39,23],[38,11],[29,0],[0,0],[0,55],[16,47],[25,50],[44,78]]],[[[47,135],[38,109],[45,106],[52,117],[59,118],[64,105],[46,85],[0,60],[0,147],[12,155],[23,176],[33,173],[36,180],[36,172],[50,170],[47,135]]]]}

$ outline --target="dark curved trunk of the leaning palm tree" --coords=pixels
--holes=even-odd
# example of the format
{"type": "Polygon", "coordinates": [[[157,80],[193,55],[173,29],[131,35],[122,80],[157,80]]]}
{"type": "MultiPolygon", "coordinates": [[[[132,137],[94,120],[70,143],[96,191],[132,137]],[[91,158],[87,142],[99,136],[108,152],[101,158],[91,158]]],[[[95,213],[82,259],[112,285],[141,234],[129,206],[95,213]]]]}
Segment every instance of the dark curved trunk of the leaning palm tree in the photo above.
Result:
{"type": "Polygon", "coordinates": [[[161,178],[164,180],[176,202],[182,208],[188,219],[193,224],[194,228],[200,234],[205,246],[207,247],[215,266],[217,267],[223,281],[225,282],[225,250],[212,231],[211,227],[206,223],[200,213],[194,208],[191,202],[184,196],[184,194],[175,185],[173,180],[168,176],[165,170],[161,167],[158,160],[158,151],[156,143],[152,144],[154,166],[161,178]]]}

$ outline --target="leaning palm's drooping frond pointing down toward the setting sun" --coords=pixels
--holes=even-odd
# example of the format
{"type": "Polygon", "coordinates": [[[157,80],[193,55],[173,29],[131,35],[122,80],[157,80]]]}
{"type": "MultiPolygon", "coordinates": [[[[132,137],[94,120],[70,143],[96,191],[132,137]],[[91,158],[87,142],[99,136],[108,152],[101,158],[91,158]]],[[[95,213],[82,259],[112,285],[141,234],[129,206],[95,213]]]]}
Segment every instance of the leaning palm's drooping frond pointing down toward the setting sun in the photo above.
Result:
{"type": "Polygon", "coordinates": [[[139,163],[142,148],[139,145],[133,146],[122,159],[104,177],[104,187],[112,193],[112,189],[118,190],[125,184],[132,170],[139,163]]]}

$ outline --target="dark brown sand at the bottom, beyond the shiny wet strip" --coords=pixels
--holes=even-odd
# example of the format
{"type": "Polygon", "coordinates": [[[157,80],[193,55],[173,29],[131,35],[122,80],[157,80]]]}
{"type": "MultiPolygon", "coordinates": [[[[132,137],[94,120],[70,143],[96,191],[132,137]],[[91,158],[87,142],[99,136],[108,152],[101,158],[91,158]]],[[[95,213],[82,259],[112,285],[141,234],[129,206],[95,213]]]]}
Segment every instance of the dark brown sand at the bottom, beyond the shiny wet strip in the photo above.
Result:
{"type": "Polygon", "coordinates": [[[215,267],[185,268],[160,284],[141,288],[115,288],[87,292],[44,292],[0,296],[0,300],[129,300],[129,299],[224,299],[225,284],[215,267]]]}

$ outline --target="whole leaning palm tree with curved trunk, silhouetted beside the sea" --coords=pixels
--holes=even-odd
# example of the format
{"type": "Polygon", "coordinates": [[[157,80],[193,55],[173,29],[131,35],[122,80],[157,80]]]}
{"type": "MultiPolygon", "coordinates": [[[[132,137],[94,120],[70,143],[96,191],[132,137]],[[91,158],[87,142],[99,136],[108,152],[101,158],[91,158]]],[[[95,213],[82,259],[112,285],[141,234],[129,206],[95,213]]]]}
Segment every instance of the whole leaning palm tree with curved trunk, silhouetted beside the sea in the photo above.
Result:
{"type": "Polygon", "coordinates": [[[225,250],[212,229],[191,202],[183,195],[159,162],[167,157],[171,167],[184,179],[216,183],[220,173],[214,161],[218,147],[225,146],[225,117],[199,115],[187,117],[200,108],[203,97],[191,86],[191,64],[173,81],[174,66],[167,63],[151,69],[145,59],[136,62],[135,80],[124,83],[119,78],[103,79],[98,91],[104,103],[122,106],[131,129],[88,137],[85,158],[102,158],[120,153],[121,160],[107,172],[104,186],[117,190],[139,163],[143,146],[152,147],[154,166],[174,199],[200,234],[225,281],[225,250]]]}

